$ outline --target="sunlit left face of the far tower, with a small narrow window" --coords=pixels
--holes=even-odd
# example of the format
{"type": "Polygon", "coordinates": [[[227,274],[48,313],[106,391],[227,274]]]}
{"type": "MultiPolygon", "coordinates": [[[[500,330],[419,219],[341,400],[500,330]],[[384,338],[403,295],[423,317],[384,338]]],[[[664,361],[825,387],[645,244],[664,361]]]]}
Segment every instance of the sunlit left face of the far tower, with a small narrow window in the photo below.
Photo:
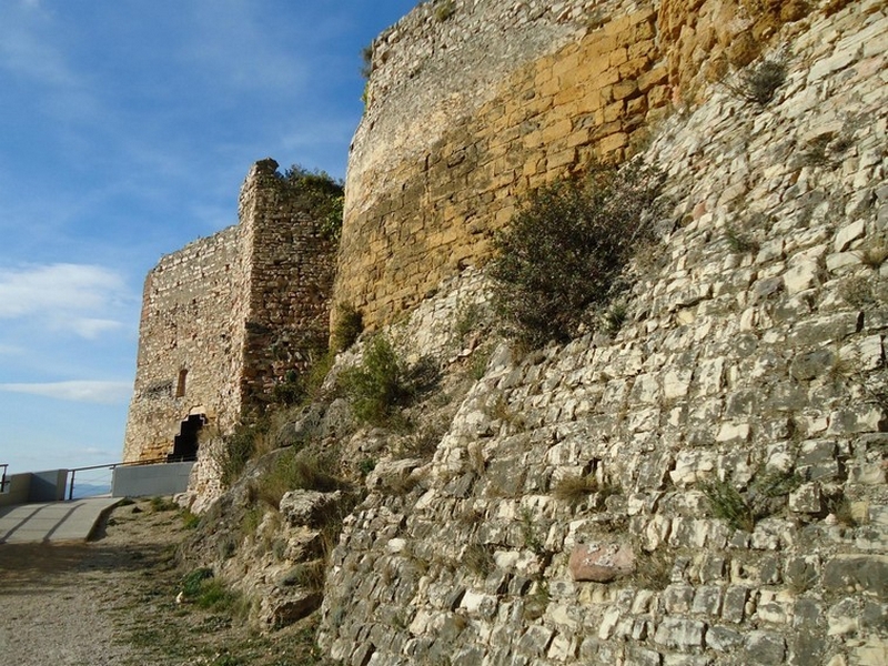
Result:
{"type": "Polygon", "coordinates": [[[171,453],[192,411],[213,418],[222,432],[234,426],[246,306],[239,226],[164,256],[148,274],[124,461],[171,453]],[[183,371],[184,394],[178,395],[183,371]]]}

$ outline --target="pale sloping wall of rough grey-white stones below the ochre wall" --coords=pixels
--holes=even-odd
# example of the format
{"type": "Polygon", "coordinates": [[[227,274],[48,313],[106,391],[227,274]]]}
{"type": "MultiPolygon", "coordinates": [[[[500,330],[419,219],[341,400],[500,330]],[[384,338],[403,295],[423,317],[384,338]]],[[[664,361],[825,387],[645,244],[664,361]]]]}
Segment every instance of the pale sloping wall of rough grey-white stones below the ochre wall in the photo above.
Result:
{"type": "Polygon", "coordinates": [[[616,336],[502,347],[414,484],[369,488],[334,658],[888,662],[888,8],[803,27],[766,109],[710,87],[646,150],[674,210],[616,336]]]}

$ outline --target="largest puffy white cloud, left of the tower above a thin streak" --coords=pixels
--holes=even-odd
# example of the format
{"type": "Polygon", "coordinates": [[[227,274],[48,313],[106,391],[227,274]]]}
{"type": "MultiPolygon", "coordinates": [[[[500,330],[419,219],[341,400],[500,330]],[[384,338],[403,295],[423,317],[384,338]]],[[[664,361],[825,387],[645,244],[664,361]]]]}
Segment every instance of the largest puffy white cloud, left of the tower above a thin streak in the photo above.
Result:
{"type": "Polygon", "coordinates": [[[109,314],[130,300],[123,279],[89,264],[0,269],[0,320],[32,319],[95,339],[122,324],[109,314]]]}

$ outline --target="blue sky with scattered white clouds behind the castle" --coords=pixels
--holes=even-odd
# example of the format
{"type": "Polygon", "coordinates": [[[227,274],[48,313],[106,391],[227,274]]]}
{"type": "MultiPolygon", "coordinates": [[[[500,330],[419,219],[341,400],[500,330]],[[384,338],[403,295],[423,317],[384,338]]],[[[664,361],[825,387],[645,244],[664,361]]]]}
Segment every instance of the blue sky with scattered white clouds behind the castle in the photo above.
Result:
{"type": "Polygon", "coordinates": [[[0,463],[120,460],[142,283],[250,165],[345,174],[415,0],[0,0],[0,463]]]}

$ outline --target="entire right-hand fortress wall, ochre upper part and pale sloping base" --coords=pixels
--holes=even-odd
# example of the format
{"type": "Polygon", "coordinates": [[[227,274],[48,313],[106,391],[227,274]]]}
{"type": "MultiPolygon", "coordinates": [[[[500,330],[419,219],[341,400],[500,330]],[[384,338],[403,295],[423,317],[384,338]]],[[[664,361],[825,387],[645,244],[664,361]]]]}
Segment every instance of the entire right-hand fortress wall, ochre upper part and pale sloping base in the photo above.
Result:
{"type": "MultiPolygon", "coordinates": [[[[862,250],[888,226],[888,104],[884,54],[860,54],[888,34],[884,3],[786,28],[777,2],[443,4],[374,44],[337,300],[472,387],[394,483],[416,433],[335,443],[382,466],[331,557],[321,644],[373,666],[875,660],[888,315],[862,250]],[[764,109],[706,84],[778,42],[793,56],[764,109]],[[471,264],[521,194],[624,155],[670,98],[689,103],[644,149],[669,210],[619,330],[486,362],[484,335],[455,340],[461,303],[486,297],[471,264]],[[476,360],[480,380],[458,374],[476,360]],[[714,506],[715,482],[739,497],[714,506]],[[637,548],[633,575],[574,579],[593,543],[637,548]]],[[[408,412],[417,432],[435,401],[408,412]]]]}

